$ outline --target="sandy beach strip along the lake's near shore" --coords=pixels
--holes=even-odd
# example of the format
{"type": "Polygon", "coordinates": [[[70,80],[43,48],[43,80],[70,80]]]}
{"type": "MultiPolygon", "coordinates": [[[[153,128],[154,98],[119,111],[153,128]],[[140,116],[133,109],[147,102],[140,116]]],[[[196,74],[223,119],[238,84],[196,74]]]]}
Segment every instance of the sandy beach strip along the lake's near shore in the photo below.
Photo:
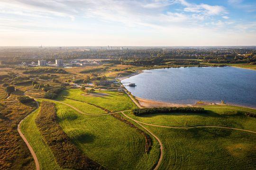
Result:
{"type": "Polygon", "coordinates": [[[144,98],[139,98],[136,97],[137,101],[139,102],[139,104],[143,107],[146,108],[152,108],[152,107],[197,107],[197,106],[237,106],[237,107],[244,107],[244,108],[248,108],[248,109],[256,109],[250,106],[245,106],[245,105],[239,105],[239,104],[233,104],[233,103],[229,103],[229,104],[221,104],[221,103],[217,103],[214,104],[214,102],[204,102],[201,104],[182,104],[182,103],[172,103],[172,102],[162,102],[162,101],[154,101],[154,100],[149,100],[149,99],[144,99],[144,98]]]}

